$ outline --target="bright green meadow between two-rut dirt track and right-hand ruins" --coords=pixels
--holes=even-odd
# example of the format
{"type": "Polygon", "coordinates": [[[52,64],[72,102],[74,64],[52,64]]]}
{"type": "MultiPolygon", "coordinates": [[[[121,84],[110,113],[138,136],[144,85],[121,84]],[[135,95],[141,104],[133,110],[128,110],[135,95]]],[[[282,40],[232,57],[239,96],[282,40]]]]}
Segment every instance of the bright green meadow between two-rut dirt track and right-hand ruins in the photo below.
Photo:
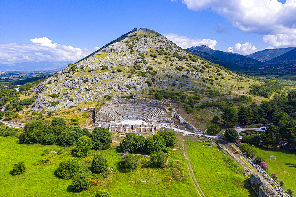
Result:
{"type": "Polygon", "coordinates": [[[244,187],[247,177],[234,159],[217,150],[203,146],[206,142],[185,138],[194,175],[206,196],[257,196],[244,187]]]}

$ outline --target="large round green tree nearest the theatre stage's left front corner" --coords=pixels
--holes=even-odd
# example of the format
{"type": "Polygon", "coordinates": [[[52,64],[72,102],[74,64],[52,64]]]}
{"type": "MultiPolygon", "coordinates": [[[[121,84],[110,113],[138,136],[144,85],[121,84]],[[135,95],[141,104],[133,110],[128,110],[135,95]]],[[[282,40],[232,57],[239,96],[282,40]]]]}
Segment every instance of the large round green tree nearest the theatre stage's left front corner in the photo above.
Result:
{"type": "Polygon", "coordinates": [[[92,140],[93,148],[95,150],[107,150],[111,146],[111,133],[107,128],[96,127],[91,132],[89,138],[92,140]]]}

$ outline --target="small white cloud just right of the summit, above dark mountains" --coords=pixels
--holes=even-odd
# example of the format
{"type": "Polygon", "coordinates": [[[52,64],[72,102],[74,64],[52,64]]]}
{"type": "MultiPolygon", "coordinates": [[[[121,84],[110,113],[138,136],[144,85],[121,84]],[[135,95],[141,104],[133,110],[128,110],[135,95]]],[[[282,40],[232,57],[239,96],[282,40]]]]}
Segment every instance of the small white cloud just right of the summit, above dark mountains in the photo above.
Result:
{"type": "Polygon", "coordinates": [[[186,36],[179,36],[176,33],[164,34],[163,36],[184,49],[192,46],[199,46],[199,45],[207,45],[208,47],[215,49],[215,45],[217,44],[216,40],[192,39],[192,38],[187,38],[186,36]]]}

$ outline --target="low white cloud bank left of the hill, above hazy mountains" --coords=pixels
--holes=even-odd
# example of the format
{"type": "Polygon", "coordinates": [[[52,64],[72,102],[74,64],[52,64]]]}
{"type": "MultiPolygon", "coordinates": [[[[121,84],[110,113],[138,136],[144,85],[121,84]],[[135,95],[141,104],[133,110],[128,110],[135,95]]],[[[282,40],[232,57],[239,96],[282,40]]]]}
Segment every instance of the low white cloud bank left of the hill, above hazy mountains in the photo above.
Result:
{"type": "Polygon", "coordinates": [[[30,39],[34,44],[0,43],[0,64],[21,62],[64,62],[78,61],[99,49],[74,48],[52,43],[48,38],[30,39]]]}

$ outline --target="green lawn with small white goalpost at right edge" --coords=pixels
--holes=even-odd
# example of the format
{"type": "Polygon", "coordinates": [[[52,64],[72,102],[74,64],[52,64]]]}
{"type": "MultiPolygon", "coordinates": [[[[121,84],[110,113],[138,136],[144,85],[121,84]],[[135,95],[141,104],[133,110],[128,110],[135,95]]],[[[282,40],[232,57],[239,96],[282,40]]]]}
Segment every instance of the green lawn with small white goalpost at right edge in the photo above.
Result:
{"type": "Polygon", "coordinates": [[[256,155],[263,157],[265,163],[269,166],[268,172],[278,175],[278,180],[283,180],[288,189],[296,191],[296,160],[295,152],[288,152],[281,149],[268,150],[262,146],[256,146],[258,153],[256,155]],[[275,156],[276,159],[269,159],[275,156]]]}

